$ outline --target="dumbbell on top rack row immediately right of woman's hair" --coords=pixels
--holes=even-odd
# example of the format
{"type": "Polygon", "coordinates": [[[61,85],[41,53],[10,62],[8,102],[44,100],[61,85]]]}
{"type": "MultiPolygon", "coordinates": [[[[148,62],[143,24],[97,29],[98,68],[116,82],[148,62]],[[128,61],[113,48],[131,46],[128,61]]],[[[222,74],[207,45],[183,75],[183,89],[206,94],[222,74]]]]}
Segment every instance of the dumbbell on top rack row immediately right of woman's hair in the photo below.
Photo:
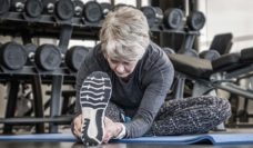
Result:
{"type": "Polygon", "coordinates": [[[163,19],[162,9],[159,7],[142,7],[141,11],[146,17],[150,27],[161,22],[163,19]]]}

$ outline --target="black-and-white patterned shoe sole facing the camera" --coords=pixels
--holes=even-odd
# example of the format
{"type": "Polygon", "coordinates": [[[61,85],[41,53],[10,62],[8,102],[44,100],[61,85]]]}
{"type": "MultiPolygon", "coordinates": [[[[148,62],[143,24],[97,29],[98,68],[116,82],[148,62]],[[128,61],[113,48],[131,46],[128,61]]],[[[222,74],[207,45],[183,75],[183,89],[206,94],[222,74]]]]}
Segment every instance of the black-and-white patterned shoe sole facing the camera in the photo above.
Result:
{"type": "Polygon", "coordinates": [[[111,98],[111,80],[104,72],[92,72],[82,83],[80,103],[82,109],[81,140],[85,146],[102,142],[104,111],[111,98]]]}

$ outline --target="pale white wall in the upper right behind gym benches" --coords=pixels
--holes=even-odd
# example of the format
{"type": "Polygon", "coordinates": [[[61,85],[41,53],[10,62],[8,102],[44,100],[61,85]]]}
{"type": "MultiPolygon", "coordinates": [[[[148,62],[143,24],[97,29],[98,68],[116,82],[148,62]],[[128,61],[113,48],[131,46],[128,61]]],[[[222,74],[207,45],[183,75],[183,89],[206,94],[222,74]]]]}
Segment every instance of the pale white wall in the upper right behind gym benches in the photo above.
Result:
{"type": "Polygon", "coordinates": [[[199,0],[199,9],[206,16],[201,31],[200,49],[208,49],[216,33],[232,32],[232,52],[253,47],[252,0],[199,0]]]}

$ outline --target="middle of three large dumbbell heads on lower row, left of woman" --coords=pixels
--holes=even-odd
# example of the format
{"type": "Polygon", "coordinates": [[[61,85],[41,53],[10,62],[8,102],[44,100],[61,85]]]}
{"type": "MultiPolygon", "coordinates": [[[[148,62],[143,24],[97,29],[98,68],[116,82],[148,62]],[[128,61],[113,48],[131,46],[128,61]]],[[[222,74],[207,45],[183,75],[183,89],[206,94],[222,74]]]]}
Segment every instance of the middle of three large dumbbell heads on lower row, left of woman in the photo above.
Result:
{"type": "Polygon", "coordinates": [[[53,45],[42,45],[36,50],[36,65],[43,70],[55,70],[60,67],[62,56],[60,48],[53,45]]]}

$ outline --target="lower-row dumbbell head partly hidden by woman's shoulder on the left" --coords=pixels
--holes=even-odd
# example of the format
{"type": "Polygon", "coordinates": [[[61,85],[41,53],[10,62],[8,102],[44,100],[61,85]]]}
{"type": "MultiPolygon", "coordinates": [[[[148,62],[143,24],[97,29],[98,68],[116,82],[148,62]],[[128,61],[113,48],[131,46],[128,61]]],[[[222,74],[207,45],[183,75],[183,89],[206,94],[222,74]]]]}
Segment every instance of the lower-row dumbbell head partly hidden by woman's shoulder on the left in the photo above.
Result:
{"type": "Polygon", "coordinates": [[[89,49],[82,46],[74,46],[65,52],[65,65],[73,71],[78,71],[89,49]]]}

